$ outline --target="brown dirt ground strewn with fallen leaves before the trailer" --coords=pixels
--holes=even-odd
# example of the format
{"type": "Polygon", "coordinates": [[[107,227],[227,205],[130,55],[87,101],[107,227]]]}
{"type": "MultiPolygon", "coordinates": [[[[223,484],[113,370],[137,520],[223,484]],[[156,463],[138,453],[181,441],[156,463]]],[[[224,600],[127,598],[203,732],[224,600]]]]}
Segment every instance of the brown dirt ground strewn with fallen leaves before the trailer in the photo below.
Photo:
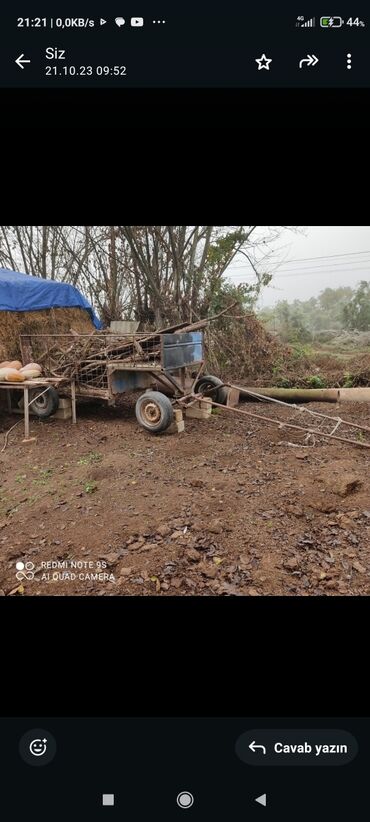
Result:
{"type": "MultiPolygon", "coordinates": [[[[368,404],[340,414],[370,426],[368,404]]],[[[1,412],[0,449],[14,422],[1,412]]],[[[303,447],[300,432],[223,411],[152,436],[133,407],[92,405],[76,426],[32,418],[31,436],[20,423],[0,453],[5,595],[370,594],[365,448],[303,447]]]]}

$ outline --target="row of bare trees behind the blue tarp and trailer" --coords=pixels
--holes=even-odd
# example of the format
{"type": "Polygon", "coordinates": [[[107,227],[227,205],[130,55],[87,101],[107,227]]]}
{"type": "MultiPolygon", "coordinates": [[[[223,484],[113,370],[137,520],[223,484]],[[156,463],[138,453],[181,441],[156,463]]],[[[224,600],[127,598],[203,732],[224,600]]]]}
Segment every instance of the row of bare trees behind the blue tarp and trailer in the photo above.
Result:
{"type": "Polygon", "coordinates": [[[235,259],[252,274],[237,296],[251,301],[270,278],[271,247],[283,228],[0,226],[0,266],[72,283],[107,324],[134,314],[159,327],[218,308],[235,259]]]}

